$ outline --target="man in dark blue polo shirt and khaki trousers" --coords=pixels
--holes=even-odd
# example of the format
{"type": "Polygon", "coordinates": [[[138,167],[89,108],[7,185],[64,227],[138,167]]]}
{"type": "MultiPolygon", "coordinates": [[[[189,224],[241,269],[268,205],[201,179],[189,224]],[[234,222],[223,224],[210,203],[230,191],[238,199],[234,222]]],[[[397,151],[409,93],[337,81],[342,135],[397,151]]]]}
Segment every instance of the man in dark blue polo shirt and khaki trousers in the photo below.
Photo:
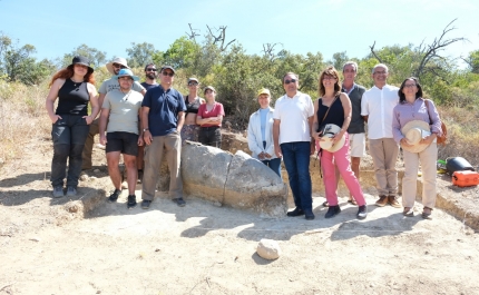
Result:
{"type": "Polygon", "coordinates": [[[145,139],[145,171],[143,176],[141,208],[147,209],[155,198],[163,155],[169,168],[169,197],[178,206],[185,206],[183,181],[179,171],[182,138],[179,132],[185,122],[185,99],[172,88],[175,69],[160,69],[158,87],[149,89],[141,104],[141,126],[145,139]]]}

